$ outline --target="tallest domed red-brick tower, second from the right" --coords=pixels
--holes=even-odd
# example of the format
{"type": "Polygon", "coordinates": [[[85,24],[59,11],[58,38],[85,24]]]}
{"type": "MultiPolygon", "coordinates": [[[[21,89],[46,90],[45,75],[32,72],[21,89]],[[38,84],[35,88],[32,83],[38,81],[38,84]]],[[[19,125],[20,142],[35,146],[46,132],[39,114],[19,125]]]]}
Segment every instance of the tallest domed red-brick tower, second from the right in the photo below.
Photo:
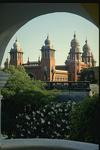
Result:
{"type": "Polygon", "coordinates": [[[71,48],[68,54],[67,60],[65,62],[66,67],[69,72],[68,80],[77,81],[78,73],[81,70],[81,52],[79,48],[79,42],[76,39],[76,34],[74,33],[74,38],[71,41],[71,48]]]}

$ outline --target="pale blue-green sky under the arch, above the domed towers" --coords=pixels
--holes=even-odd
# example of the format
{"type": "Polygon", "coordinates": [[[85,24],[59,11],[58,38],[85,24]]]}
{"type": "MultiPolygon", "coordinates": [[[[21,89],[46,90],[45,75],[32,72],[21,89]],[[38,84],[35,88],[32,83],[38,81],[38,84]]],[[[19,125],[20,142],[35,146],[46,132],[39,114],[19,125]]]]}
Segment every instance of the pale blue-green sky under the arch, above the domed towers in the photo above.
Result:
{"type": "Polygon", "coordinates": [[[9,58],[9,51],[16,40],[19,41],[23,49],[23,62],[37,61],[41,57],[41,47],[49,34],[51,45],[56,50],[55,60],[57,65],[63,65],[69,50],[70,42],[74,32],[80,44],[80,52],[87,38],[88,45],[99,65],[99,29],[87,19],[72,13],[50,13],[36,17],[23,25],[9,41],[2,61],[9,58]]]}

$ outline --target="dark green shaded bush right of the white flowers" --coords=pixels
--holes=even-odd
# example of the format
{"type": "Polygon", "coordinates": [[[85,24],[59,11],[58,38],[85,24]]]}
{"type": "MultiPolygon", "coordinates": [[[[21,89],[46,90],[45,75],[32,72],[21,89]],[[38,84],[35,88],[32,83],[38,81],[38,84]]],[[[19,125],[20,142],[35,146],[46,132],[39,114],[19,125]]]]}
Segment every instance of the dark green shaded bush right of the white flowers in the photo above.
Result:
{"type": "Polygon", "coordinates": [[[70,114],[72,140],[100,143],[100,100],[95,95],[76,104],[70,114]]]}

